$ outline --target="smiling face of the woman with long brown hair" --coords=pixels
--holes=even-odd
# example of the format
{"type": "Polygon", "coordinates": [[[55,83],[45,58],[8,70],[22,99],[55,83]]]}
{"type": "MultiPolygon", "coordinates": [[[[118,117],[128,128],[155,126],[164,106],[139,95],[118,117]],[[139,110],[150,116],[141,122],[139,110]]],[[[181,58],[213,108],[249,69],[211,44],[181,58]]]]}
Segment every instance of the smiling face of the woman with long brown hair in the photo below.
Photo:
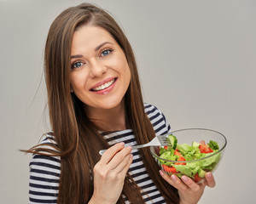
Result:
{"type": "Polygon", "coordinates": [[[116,107],[131,81],[123,50],[98,26],[82,26],[74,32],[71,69],[72,91],[88,108],[116,107]]]}

